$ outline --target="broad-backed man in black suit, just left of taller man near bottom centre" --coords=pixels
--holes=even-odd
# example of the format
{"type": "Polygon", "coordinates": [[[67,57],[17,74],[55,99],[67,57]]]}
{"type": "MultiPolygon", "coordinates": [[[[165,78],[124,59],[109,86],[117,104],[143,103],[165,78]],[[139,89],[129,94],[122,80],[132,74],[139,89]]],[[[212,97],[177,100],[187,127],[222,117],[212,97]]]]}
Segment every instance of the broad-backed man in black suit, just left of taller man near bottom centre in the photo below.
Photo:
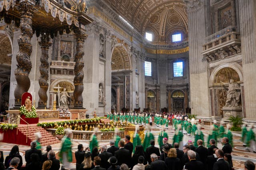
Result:
{"type": "Polygon", "coordinates": [[[118,147],[119,150],[117,150],[114,154],[118,161],[118,165],[127,164],[129,167],[131,167],[130,161],[132,159],[132,156],[128,149],[124,149],[124,141],[119,141],[118,147]]]}

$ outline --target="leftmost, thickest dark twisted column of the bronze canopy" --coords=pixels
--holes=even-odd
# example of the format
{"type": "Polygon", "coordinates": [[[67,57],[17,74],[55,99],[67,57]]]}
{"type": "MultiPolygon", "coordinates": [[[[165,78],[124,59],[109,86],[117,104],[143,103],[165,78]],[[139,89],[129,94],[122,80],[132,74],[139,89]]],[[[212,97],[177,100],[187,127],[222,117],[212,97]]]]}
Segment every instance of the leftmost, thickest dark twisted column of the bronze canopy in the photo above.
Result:
{"type": "Polygon", "coordinates": [[[30,40],[33,36],[32,18],[37,9],[27,1],[18,2],[16,8],[20,12],[20,36],[18,37],[19,51],[16,55],[17,68],[14,73],[17,81],[14,97],[15,107],[19,107],[22,94],[28,92],[30,88],[30,79],[28,77],[32,68],[30,61],[32,45],[30,40]]]}

